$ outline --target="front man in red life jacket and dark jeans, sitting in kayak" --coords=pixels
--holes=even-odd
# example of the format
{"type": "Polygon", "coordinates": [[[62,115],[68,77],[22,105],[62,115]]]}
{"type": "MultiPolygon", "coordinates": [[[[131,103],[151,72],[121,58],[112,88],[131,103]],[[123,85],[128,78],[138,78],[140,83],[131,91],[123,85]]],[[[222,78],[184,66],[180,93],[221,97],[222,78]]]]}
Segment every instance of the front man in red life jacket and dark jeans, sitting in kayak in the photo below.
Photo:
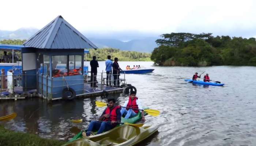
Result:
{"type": "Polygon", "coordinates": [[[121,107],[120,105],[114,105],[114,103],[116,103],[115,99],[108,99],[108,107],[98,119],[102,122],[92,121],[87,132],[82,133],[84,137],[86,137],[86,135],[90,136],[92,131],[98,130],[97,134],[101,134],[103,131],[108,131],[117,126],[117,122],[121,121],[121,107]]]}

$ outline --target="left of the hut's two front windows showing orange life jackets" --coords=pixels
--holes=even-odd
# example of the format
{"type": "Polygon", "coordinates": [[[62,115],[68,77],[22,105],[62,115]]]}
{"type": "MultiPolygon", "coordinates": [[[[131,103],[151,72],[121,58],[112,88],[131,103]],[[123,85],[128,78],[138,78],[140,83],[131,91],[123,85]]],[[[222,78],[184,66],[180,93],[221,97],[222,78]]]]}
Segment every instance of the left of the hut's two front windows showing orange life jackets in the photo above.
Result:
{"type": "Polygon", "coordinates": [[[52,76],[53,77],[62,77],[68,76],[68,56],[57,55],[52,56],[52,76]]]}

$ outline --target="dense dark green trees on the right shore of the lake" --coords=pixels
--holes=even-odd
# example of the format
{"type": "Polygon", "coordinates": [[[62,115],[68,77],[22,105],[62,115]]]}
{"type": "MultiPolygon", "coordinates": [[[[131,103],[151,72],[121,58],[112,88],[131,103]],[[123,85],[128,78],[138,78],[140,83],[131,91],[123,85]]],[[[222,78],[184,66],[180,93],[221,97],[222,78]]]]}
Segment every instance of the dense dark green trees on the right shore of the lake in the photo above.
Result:
{"type": "Polygon", "coordinates": [[[217,36],[211,33],[162,34],[151,60],[159,66],[256,66],[255,38],[217,36]]]}

